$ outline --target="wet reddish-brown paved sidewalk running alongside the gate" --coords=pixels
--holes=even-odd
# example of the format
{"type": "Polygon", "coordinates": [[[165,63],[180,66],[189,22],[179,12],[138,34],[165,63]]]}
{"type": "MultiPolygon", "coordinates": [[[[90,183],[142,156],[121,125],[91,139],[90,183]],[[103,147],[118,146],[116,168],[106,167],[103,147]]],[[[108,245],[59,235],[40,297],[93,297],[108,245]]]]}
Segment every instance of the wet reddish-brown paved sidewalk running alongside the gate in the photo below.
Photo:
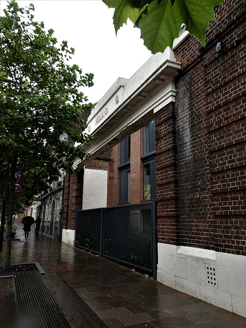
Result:
{"type": "MultiPolygon", "coordinates": [[[[16,223],[11,264],[38,262],[55,298],[60,280],[90,306],[108,327],[119,328],[246,328],[246,319],[183,294],[153,279],[56,239],[30,232],[24,240],[23,224],[16,223]]],[[[4,246],[5,247],[5,246],[4,246]]],[[[4,263],[0,253],[0,265],[4,263]]],[[[0,327],[17,327],[14,321],[12,277],[0,278],[0,327]]],[[[82,328],[82,327],[81,327],[82,328]]]]}

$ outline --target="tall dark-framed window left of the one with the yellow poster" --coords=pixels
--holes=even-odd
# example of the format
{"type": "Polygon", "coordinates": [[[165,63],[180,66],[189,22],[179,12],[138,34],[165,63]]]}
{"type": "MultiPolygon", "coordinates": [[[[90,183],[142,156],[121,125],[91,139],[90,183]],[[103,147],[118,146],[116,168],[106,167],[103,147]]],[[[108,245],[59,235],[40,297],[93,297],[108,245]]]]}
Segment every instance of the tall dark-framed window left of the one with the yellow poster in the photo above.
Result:
{"type": "Polygon", "coordinates": [[[130,202],[130,157],[131,137],[120,142],[120,165],[119,169],[119,203],[130,202]]]}

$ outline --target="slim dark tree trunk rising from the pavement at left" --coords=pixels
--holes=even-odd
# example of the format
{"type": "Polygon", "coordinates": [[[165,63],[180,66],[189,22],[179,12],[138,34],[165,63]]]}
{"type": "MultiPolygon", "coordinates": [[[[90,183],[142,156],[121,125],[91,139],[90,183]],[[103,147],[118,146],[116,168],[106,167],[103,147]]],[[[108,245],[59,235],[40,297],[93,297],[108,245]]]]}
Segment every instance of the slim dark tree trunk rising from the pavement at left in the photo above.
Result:
{"type": "Polygon", "coordinates": [[[10,185],[8,212],[7,212],[7,221],[6,221],[4,269],[10,268],[11,232],[12,232],[12,221],[13,221],[13,213],[14,213],[15,165],[11,165],[10,181],[11,181],[11,185],[10,185]]]}

